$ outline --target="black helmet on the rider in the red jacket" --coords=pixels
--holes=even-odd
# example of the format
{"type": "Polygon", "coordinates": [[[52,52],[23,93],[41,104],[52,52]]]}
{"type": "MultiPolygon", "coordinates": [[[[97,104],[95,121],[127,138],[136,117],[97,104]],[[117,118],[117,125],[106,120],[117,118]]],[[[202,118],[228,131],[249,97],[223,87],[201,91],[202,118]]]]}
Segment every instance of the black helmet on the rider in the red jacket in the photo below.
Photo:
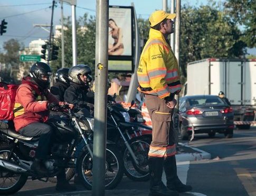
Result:
{"type": "Polygon", "coordinates": [[[30,68],[30,76],[41,89],[48,89],[51,82],[50,77],[52,76],[51,67],[46,63],[36,62],[30,68]]]}

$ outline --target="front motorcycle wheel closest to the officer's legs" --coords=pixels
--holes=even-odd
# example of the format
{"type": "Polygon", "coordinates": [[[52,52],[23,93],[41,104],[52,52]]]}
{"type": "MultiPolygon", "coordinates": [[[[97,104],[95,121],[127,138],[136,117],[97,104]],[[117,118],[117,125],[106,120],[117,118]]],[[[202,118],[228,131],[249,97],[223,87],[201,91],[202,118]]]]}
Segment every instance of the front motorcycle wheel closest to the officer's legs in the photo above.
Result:
{"type": "Polygon", "coordinates": [[[149,142],[143,140],[143,136],[129,141],[140,165],[136,165],[127,148],[123,151],[123,161],[126,176],[133,181],[148,181],[150,178],[148,168],[149,142]]]}

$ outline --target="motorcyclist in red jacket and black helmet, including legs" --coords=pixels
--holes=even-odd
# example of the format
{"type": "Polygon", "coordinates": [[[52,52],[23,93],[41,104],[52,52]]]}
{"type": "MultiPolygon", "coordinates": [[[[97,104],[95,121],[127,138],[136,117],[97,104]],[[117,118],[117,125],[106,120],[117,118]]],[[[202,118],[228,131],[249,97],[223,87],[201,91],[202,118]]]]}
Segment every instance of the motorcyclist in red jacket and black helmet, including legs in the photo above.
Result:
{"type": "MultiPolygon", "coordinates": [[[[44,161],[54,140],[54,128],[45,123],[49,117],[49,110],[55,110],[59,105],[65,104],[57,100],[48,90],[51,75],[51,67],[48,64],[43,62],[33,64],[29,76],[23,78],[22,84],[17,89],[14,106],[15,130],[22,135],[39,138],[31,170],[40,177],[48,173],[44,161]]],[[[65,180],[64,168],[57,174],[57,180],[58,191],[76,189],[65,180]]]]}

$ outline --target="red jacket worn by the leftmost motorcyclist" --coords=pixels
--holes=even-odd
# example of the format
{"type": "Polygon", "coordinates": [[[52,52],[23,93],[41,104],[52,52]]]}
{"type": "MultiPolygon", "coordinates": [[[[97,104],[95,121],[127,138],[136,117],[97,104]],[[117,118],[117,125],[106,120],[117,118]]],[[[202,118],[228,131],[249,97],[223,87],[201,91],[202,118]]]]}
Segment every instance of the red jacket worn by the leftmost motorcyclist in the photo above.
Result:
{"type": "Polygon", "coordinates": [[[15,97],[15,103],[20,103],[24,107],[24,113],[14,117],[15,130],[18,131],[33,122],[45,122],[50,113],[47,105],[52,102],[62,104],[48,90],[42,92],[30,76],[24,77],[15,97]]]}

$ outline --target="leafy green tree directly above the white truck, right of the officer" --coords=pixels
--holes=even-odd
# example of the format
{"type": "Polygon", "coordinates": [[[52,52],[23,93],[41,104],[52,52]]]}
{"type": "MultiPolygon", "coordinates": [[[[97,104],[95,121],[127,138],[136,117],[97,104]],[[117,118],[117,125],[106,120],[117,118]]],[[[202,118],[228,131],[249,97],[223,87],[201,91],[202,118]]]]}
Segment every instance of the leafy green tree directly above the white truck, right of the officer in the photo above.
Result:
{"type": "Polygon", "coordinates": [[[244,54],[241,31],[225,12],[213,5],[181,9],[180,66],[203,58],[238,58],[244,54]]]}

